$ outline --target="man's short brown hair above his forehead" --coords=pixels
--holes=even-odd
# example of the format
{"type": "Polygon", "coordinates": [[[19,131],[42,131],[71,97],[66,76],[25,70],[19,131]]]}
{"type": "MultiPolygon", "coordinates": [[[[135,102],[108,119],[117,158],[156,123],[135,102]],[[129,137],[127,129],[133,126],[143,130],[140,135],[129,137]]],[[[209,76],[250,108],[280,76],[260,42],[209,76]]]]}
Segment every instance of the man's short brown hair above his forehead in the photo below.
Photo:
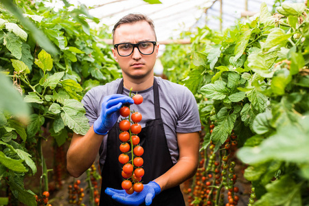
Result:
{"type": "Polygon", "coordinates": [[[150,27],[152,28],[153,32],[155,33],[155,40],[157,41],[157,35],[155,32],[155,25],[153,23],[153,21],[146,15],[144,14],[127,14],[126,16],[122,17],[122,19],[119,19],[119,21],[114,25],[113,27],[113,43],[114,43],[114,36],[115,36],[115,30],[117,29],[117,27],[119,27],[122,24],[125,23],[136,23],[138,21],[146,21],[150,27]]]}

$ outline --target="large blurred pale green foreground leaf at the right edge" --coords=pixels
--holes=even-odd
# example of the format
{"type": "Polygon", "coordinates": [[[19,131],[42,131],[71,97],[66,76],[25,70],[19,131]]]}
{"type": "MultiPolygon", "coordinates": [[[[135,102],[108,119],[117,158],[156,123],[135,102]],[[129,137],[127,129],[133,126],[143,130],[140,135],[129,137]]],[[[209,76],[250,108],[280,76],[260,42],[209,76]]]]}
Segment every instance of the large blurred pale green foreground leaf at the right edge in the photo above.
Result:
{"type": "Polygon", "coordinates": [[[263,163],[271,160],[293,163],[309,161],[309,118],[301,119],[299,126],[293,124],[282,126],[277,134],[265,139],[255,148],[243,147],[238,157],[248,164],[263,163]],[[297,134],[297,135],[295,135],[297,134]]]}

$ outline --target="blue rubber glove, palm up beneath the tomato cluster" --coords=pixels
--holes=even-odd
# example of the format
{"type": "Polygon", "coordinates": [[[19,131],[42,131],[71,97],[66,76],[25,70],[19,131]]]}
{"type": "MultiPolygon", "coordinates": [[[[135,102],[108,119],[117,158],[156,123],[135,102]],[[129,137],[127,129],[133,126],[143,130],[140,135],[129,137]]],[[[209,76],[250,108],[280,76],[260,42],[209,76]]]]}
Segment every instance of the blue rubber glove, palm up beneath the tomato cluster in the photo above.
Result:
{"type": "Polygon", "coordinates": [[[134,192],[133,194],[127,194],[125,190],[115,190],[107,187],[105,193],[111,196],[118,203],[124,205],[141,205],[146,203],[150,205],[153,198],[161,192],[161,187],[154,181],[150,181],[144,185],[144,190],[141,192],[134,192]]]}

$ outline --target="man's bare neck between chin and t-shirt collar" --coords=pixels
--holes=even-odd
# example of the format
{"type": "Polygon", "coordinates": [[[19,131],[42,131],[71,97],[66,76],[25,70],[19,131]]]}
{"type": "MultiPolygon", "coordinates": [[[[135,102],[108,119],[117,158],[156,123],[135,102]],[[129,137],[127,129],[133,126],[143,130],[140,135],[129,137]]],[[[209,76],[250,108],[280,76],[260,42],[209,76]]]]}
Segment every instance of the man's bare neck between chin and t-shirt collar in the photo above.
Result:
{"type": "Polygon", "coordinates": [[[132,91],[143,91],[146,90],[153,85],[154,76],[149,76],[148,78],[144,78],[141,80],[132,80],[131,78],[124,76],[124,88],[131,89],[132,91]]]}

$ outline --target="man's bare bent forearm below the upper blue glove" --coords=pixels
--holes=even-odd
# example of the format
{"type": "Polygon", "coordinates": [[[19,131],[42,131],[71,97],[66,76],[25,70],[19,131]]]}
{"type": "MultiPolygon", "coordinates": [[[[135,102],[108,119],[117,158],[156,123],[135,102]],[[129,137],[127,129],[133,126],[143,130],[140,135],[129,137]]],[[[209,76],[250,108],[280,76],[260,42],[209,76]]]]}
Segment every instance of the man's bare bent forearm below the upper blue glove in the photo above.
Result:
{"type": "Polygon", "coordinates": [[[104,135],[98,135],[89,128],[86,135],[73,135],[67,151],[67,171],[74,177],[82,175],[95,161],[104,135]]]}

